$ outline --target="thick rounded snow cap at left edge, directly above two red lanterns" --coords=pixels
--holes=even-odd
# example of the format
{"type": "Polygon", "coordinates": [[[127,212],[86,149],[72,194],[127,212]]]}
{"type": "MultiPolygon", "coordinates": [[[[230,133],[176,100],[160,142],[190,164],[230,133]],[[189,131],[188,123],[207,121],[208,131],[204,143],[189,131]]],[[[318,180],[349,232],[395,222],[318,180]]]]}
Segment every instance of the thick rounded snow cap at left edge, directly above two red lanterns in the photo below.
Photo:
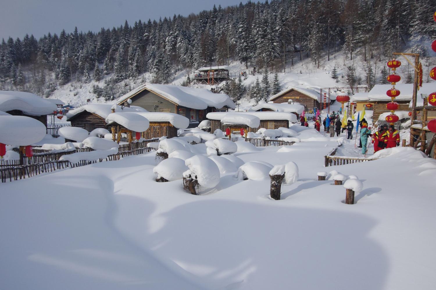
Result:
{"type": "Polygon", "coordinates": [[[44,139],[45,131],[44,124],[34,118],[0,116],[0,143],[16,146],[33,145],[44,139]]]}

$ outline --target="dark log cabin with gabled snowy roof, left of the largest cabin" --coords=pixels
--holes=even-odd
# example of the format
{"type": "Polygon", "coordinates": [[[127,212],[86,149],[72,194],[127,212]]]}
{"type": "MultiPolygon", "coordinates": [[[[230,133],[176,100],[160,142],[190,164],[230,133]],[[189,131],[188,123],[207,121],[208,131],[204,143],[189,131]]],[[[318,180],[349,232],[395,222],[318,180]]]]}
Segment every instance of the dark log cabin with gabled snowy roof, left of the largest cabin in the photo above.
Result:
{"type": "Polygon", "coordinates": [[[111,104],[88,104],[67,113],[67,121],[72,127],[80,127],[88,132],[97,128],[106,128],[106,118],[112,112],[145,112],[139,107],[114,107],[111,104]]]}

